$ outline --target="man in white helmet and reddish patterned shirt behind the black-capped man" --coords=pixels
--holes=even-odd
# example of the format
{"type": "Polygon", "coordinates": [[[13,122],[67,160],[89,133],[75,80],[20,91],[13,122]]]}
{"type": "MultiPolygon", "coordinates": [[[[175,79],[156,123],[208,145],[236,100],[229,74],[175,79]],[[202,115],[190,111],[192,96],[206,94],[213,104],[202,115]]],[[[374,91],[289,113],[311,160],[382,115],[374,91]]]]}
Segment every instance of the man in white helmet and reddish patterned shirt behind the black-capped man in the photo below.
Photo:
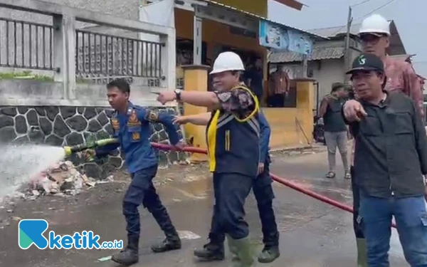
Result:
{"type": "MultiPolygon", "coordinates": [[[[373,14],[362,21],[359,29],[359,38],[362,41],[364,53],[373,53],[381,58],[384,63],[386,84],[384,90],[400,91],[412,98],[420,115],[423,115],[423,95],[421,85],[411,63],[397,60],[387,55],[386,49],[390,44],[389,21],[379,14],[373,14]]],[[[356,101],[348,101],[344,109],[352,108],[356,101]]],[[[357,112],[351,112],[351,116],[357,117],[357,112]]],[[[354,150],[354,148],[353,148],[354,150]]],[[[351,167],[352,177],[354,169],[351,167]]],[[[353,226],[357,240],[357,262],[359,267],[367,266],[366,241],[363,234],[363,219],[359,216],[359,187],[352,181],[353,191],[353,226]]]]}

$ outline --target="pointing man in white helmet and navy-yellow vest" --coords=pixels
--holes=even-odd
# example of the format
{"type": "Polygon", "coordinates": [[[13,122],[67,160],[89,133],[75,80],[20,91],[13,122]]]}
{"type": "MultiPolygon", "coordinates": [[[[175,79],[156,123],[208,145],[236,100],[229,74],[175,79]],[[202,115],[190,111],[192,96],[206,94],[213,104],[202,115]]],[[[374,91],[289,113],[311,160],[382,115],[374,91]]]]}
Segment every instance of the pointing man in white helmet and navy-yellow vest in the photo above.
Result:
{"type": "Polygon", "coordinates": [[[246,197],[258,174],[260,126],[258,99],[241,85],[245,70],[233,52],[219,54],[211,70],[214,92],[172,90],[159,93],[165,104],[180,101],[213,110],[206,127],[209,170],[214,174],[214,194],[219,224],[228,246],[236,251],[239,266],[255,266],[244,216],[246,197]]]}

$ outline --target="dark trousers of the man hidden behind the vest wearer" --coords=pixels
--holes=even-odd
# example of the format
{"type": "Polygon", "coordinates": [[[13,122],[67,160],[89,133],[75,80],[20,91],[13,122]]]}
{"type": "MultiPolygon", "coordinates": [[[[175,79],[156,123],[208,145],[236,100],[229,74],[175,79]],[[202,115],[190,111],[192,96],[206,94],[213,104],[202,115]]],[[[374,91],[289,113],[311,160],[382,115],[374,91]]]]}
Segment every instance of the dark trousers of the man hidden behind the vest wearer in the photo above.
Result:
{"type": "MultiPolygon", "coordinates": [[[[273,179],[270,177],[268,165],[265,165],[264,172],[253,180],[253,194],[255,194],[255,199],[258,204],[258,212],[263,230],[263,243],[268,247],[279,245],[278,226],[276,224],[275,214],[273,211],[273,199],[275,196],[273,187],[271,186],[272,182],[273,179]]],[[[222,244],[225,240],[225,234],[223,229],[221,229],[217,213],[218,209],[215,205],[209,239],[214,244],[222,244]]]]}

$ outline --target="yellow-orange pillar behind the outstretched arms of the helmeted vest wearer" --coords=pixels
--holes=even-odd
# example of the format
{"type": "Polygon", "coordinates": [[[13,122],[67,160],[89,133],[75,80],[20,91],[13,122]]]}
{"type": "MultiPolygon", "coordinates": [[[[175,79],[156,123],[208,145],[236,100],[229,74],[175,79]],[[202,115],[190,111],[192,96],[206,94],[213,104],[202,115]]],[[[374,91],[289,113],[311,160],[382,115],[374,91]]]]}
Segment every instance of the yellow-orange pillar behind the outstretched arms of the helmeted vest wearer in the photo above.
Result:
{"type": "MultiPolygon", "coordinates": [[[[184,88],[186,91],[207,92],[209,66],[186,65],[182,66],[182,68],[184,70],[184,88]]],[[[208,112],[207,108],[184,103],[184,115],[195,115],[204,112],[208,112]]],[[[184,130],[186,140],[192,140],[194,147],[207,148],[205,126],[187,124],[184,126],[184,130]]],[[[208,157],[206,155],[194,154],[190,160],[200,162],[208,160],[208,157]]]]}

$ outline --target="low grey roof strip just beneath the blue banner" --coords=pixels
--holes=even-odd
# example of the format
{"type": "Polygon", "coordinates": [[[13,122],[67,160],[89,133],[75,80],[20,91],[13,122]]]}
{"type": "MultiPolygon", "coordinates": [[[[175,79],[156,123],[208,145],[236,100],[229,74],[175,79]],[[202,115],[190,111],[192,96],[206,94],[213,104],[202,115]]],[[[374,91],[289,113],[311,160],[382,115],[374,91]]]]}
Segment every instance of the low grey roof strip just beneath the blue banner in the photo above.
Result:
{"type": "MultiPolygon", "coordinates": [[[[320,61],[322,59],[337,59],[344,56],[344,47],[315,47],[313,53],[307,58],[308,61],[320,61]]],[[[294,52],[273,52],[268,58],[270,63],[288,63],[302,61],[302,54],[294,52]]]]}

